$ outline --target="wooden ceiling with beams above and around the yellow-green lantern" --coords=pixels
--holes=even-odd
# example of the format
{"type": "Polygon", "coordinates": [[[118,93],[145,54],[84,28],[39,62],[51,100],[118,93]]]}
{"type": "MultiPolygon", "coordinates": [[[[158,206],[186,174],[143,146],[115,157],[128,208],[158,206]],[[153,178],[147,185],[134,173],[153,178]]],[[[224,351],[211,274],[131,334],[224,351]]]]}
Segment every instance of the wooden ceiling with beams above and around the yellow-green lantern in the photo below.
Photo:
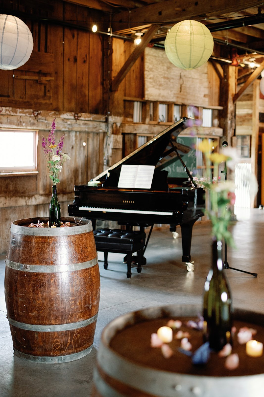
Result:
{"type": "MultiPolygon", "coordinates": [[[[125,38],[135,32],[146,34],[156,25],[150,43],[164,42],[167,31],[184,19],[207,25],[224,56],[218,62],[234,58],[238,75],[247,78],[255,65],[264,61],[264,0],[65,0],[102,12],[101,30],[110,30],[125,38]],[[245,77],[244,77],[245,76],[245,77]]],[[[144,36],[143,36],[144,37],[144,36]]],[[[242,82],[241,80],[241,82],[242,82]]]]}

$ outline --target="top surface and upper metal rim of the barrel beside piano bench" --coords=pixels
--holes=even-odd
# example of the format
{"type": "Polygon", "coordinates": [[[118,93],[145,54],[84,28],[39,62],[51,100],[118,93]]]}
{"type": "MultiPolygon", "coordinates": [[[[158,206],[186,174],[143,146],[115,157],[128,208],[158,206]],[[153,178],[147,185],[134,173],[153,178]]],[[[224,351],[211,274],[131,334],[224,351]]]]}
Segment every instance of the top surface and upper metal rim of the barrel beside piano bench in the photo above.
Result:
{"type": "Polygon", "coordinates": [[[31,236],[65,236],[88,233],[93,230],[90,220],[73,217],[61,218],[63,223],[70,222],[69,227],[28,227],[31,223],[37,224],[38,220],[40,220],[40,223],[47,224],[49,218],[37,217],[15,220],[11,223],[11,232],[31,236]]]}

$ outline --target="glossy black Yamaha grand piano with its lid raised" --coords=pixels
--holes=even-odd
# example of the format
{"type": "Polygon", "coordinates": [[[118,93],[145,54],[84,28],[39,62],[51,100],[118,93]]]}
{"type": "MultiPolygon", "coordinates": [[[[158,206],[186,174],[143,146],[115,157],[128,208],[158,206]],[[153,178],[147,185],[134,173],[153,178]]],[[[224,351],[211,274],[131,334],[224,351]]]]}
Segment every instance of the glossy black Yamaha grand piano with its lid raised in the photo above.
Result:
{"type": "MultiPolygon", "coordinates": [[[[196,186],[181,155],[190,148],[177,143],[177,136],[188,127],[182,118],[150,139],[137,150],[91,179],[87,185],[74,186],[74,202],[68,205],[69,216],[96,220],[117,221],[129,230],[139,226],[141,231],[154,224],[168,224],[171,231],[180,225],[182,232],[182,261],[187,270],[193,270],[191,262],[192,227],[203,216],[204,191],[196,186]],[[186,171],[186,178],[169,178],[168,163],[179,158],[186,171]],[[150,189],[118,188],[122,165],[155,166],[150,189]],[[189,268],[188,268],[189,266],[189,268]]],[[[145,246],[146,249],[146,246],[145,246]]]]}

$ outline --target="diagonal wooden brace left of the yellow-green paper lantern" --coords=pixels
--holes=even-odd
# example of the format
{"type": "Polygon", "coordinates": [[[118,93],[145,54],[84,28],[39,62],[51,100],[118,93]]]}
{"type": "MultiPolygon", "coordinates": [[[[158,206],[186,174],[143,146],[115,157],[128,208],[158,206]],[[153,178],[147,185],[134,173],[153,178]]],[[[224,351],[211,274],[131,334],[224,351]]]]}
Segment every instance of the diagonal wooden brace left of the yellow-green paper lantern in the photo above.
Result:
{"type": "Polygon", "coordinates": [[[123,64],[122,68],[120,69],[116,77],[114,77],[111,86],[112,91],[118,90],[118,86],[120,85],[121,81],[125,78],[131,67],[135,64],[136,60],[142,54],[142,52],[144,51],[144,49],[146,48],[152,37],[155,35],[159,27],[160,25],[152,25],[148,29],[148,31],[144,34],[141,43],[136,46],[135,50],[127,58],[127,60],[123,64]]]}

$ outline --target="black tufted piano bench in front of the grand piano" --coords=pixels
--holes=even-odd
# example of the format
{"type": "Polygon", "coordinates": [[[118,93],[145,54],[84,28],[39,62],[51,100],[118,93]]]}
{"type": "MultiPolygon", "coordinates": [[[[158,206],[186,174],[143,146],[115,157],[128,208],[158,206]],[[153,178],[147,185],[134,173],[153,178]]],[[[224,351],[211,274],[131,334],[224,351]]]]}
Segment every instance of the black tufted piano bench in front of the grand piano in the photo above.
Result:
{"type": "Polygon", "coordinates": [[[127,278],[131,278],[132,260],[137,264],[137,272],[141,273],[141,265],[146,264],[143,256],[146,233],[141,231],[127,231],[120,229],[97,229],[93,231],[97,251],[104,252],[104,268],[108,268],[108,252],[126,254],[127,278]],[[137,252],[137,256],[132,256],[137,252]],[[132,259],[133,258],[133,259],[132,259]]]}

